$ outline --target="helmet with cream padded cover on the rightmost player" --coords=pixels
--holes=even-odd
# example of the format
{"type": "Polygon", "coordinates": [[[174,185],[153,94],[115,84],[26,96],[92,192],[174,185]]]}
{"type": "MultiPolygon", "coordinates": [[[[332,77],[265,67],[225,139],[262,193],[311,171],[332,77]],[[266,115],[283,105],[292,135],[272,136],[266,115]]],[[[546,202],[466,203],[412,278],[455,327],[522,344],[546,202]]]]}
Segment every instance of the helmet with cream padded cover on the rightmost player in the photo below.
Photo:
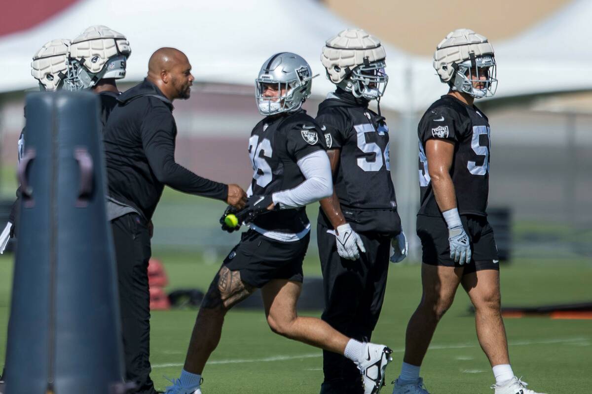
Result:
{"type": "Polygon", "coordinates": [[[497,67],[493,45],[481,34],[469,29],[450,32],[437,45],[433,66],[440,81],[448,83],[452,90],[475,98],[496,94],[497,67]]]}

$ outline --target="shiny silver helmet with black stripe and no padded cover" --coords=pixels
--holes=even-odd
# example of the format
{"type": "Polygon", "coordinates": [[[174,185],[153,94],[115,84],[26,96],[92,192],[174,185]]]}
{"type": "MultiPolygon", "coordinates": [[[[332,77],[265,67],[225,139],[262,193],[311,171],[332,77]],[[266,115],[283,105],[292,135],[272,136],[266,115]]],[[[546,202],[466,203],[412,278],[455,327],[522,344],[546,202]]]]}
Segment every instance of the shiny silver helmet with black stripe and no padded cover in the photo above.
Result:
{"type": "Polygon", "coordinates": [[[276,53],[263,63],[255,79],[255,99],[261,115],[300,109],[310,97],[313,76],[307,61],[290,52],[276,53]],[[276,90],[278,96],[266,96],[266,90],[276,90]]]}

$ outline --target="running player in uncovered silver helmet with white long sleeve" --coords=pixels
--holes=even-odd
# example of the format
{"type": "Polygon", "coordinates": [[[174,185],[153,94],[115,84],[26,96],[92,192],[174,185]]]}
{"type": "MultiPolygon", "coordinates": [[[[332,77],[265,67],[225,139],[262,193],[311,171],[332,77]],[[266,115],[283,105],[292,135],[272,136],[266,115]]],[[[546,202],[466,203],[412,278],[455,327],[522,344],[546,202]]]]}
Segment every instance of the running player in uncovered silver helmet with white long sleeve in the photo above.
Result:
{"type": "Polygon", "coordinates": [[[249,223],[202,301],[181,376],[167,394],[201,394],[205,363],[220,340],[224,315],[260,288],[272,331],[312,346],[345,354],[358,366],[366,393],[377,393],[391,350],[362,343],[318,318],[296,311],[310,239],[305,206],[332,194],[324,136],[301,108],[313,74],[300,56],[277,53],[263,63],[256,100],[265,116],[249,138],[253,179],[246,207],[237,216],[249,223]]]}

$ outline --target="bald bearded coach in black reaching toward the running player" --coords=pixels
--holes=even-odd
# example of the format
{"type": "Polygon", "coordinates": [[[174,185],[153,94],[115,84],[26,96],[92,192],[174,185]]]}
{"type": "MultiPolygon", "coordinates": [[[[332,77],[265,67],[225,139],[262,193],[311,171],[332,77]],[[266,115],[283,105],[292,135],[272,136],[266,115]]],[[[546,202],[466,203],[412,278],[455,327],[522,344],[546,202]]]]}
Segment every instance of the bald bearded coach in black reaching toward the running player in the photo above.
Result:
{"type": "Polygon", "coordinates": [[[191,93],[191,64],[174,48],[150,57],[148,76],[117,97],[104,129],[107,212],[117,260],[126,379],[136,393],[156,394],[150,379],[150,220],[165,185],[242,208],[244,190],[217,183],[175,162],[175,99],[191,93]]]}

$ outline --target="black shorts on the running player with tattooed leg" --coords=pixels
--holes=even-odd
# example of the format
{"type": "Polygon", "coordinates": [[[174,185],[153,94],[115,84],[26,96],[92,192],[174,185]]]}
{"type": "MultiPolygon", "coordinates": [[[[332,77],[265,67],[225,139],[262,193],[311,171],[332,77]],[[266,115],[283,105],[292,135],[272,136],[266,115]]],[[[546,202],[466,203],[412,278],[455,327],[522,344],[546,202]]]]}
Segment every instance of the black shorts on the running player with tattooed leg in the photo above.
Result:
{"type": "Polygon", "coordinates": [[[248,230],[224,259],[224,265],[230,271],[240,271],[243,282],[258,288],[272,279],[302,282],[302,262],[309,241],[310,233],[294,242],[282,242],[248,230]]]}

